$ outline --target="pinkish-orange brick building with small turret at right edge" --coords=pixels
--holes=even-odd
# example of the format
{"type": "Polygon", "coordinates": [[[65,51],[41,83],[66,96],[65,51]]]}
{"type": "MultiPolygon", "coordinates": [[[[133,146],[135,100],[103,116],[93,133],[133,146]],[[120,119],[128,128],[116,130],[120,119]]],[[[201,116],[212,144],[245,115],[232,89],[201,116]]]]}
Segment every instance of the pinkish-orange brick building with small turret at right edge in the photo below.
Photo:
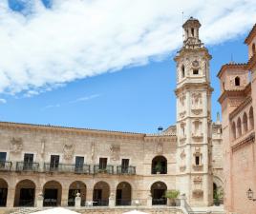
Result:
{"type": "Polygon", "coordinates": [[[219,74],[224,141],[224,206],[227,211],[255,214],[256,26],[245,39],[248,62],[225,64],[219,74]]]}

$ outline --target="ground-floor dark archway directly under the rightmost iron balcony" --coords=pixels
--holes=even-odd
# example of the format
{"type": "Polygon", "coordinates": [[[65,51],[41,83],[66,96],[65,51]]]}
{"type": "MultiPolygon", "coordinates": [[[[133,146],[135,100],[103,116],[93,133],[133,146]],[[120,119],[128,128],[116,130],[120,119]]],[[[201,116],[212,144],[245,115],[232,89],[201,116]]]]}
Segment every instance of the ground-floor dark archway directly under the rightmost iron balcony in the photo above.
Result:
{"type": "Polygon", "coordinates": [[[127,182],[121,182],[117,185],[116,205],[131,205],[132,186],[127,182]]]}

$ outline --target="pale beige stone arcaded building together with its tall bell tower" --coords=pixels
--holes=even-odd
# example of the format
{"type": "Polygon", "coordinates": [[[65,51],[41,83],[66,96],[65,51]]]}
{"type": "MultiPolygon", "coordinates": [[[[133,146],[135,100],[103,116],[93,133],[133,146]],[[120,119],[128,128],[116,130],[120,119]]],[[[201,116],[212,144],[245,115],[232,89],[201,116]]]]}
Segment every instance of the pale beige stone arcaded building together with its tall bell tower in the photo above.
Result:
{"type": "Polygon", "coordinates": [[[177,189],[194,206],[223,185],[222,126],[211,121],[201,24],[184,25],[177,62],[177,125],[157,134],[0,122],[0,205],[166,204],[177,189]]]}

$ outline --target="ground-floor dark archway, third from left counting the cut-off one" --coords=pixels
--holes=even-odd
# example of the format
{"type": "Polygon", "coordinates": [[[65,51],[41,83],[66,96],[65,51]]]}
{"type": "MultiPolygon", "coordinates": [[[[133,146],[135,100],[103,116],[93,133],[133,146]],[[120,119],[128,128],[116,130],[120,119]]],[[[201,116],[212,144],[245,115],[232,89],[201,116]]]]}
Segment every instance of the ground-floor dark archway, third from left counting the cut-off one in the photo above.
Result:
{"type": "Polygon", "coordinates": [[[43,187],[44,206],[57,206],[61,204],[62,186],[56,181],[47,182],[43,187]]]}

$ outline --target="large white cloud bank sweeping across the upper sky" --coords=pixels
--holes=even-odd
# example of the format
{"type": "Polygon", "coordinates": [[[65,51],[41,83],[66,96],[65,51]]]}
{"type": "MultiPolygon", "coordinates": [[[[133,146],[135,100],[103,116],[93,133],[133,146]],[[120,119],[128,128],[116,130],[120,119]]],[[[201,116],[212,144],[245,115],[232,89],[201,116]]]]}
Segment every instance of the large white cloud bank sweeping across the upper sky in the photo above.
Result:
{"type": "Polygon", "coordinates": [[[75,79],[146,64],[181,46],[181,11],[203,24],[203,42],[252,27],[255,0],[30,1],[23,15],[0,2],[0,92],[28,96],[75,79]],[[28,92],[31,91],[31,92],[28,92]]]}

